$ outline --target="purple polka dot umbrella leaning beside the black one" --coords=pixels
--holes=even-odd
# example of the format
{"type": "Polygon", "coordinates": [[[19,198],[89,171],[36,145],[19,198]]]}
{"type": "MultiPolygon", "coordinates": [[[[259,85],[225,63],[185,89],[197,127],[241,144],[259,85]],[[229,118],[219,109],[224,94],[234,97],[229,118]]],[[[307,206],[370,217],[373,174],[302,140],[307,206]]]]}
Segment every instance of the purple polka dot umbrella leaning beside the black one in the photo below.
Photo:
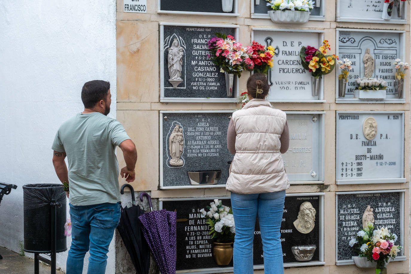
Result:
{"type": "Polygon", "coordinates": [[[159,270],[162,274],[175,274],[176,260],[176,223],[177,212],[167,210],[152,211],[151,197],[148,193],[141,193],[148,198],[151,212],[139,216],[142,231],[148,246],[153,253],[159,270]]]}

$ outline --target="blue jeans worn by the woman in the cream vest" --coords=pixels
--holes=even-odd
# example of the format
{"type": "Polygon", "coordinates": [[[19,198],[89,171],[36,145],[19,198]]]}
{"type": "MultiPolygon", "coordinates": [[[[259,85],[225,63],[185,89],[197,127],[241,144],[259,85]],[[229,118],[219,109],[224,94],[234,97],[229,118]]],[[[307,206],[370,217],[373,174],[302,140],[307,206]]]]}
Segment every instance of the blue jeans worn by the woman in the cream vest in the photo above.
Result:
{"type": "Polygon", "coordinates": [[[258,216],[263,242],[264,273],[284,273],[280,227],[285,191],[257,194],[231,193],[236,224],[234,238],[234,274],[252,274],[253,240],[258,216]]]}

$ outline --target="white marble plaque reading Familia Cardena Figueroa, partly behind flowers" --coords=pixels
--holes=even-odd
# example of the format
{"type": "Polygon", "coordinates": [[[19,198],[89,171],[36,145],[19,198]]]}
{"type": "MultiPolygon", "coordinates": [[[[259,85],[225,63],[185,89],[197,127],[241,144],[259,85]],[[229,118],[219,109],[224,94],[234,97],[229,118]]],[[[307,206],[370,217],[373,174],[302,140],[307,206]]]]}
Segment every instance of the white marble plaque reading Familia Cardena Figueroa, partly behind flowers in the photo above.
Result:
{"type": "MultiPolygon", "coordinates": [[[[260,4],[261,5],[261,4],[260,4]]],[[[311,73],[301,65],[302,46],[318,48],[324,39],[320,30],[252,29],[252,40],[275,48],[274,66],[268,73],[268,100],[275,102],[323,101],[323,80],[319,95],[312,95],[311,73]]]]}

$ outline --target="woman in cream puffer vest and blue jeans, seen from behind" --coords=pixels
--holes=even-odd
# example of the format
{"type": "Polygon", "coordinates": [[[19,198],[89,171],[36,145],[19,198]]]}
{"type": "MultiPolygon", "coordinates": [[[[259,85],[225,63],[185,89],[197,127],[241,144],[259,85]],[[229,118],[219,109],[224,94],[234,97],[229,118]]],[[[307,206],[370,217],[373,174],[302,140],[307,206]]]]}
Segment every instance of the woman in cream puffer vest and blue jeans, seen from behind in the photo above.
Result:
{"type": "Polygon", "coordinates": [[[227,146],[235,154],[226,189],[236,223],[234,274],[252,274],[256,216],[263,242],[264,273],[283,273],[280,226],[285,190],[290,183],[281,153],[289,146],[286,114],[265,98],[268,80],[253,74],[247,80],[250,101],[231,117],[227,146]]]}

